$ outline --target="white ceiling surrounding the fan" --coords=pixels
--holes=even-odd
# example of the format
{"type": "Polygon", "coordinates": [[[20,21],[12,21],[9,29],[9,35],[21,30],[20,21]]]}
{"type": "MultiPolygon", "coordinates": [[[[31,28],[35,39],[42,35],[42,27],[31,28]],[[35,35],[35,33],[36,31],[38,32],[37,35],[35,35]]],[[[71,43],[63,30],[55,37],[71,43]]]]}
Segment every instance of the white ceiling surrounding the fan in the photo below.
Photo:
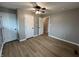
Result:
{"type": "MultiPolygon", "coordinates": [[[[37,2],[37,4],[47,9],[46,14],[79,8],[78,2],[37,2]]],[[[0,2],[0,6],[11,9],[21,8],[33,12],[31,2],[0,2]]]]}

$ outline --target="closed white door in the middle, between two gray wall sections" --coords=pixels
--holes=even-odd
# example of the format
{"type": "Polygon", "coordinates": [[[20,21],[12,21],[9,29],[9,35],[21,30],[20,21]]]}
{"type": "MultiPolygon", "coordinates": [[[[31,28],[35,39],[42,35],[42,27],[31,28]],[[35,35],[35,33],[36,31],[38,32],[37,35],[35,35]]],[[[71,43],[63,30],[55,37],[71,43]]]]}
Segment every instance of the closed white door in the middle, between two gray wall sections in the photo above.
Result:
{"type": "Polygon", "coordinates": [[[25,35],[26,38],[34,36],[34,17],[32,15],[25,15],[25,35]]]}

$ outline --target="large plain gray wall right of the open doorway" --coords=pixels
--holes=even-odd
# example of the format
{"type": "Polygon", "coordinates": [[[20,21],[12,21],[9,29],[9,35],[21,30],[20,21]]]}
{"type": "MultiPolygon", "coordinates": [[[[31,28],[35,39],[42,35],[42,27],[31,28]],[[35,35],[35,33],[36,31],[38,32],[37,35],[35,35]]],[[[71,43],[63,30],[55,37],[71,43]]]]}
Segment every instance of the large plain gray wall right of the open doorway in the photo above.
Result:
{"type": "Polygon", "coordinates": [[[79,43],[79,9],[52,14],[49,35],[79,43]]]}

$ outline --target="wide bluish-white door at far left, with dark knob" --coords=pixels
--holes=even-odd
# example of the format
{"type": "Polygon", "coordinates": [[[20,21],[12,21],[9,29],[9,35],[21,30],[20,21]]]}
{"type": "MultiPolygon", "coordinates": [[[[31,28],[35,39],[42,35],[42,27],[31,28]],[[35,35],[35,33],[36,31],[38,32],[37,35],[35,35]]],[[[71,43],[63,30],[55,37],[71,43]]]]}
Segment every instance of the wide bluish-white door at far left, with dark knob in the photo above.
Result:
{"type": "Polygon", "coordinates": [[[3,13],[3,27],[4,42],[17,39],[16,14],[3,13]]]}

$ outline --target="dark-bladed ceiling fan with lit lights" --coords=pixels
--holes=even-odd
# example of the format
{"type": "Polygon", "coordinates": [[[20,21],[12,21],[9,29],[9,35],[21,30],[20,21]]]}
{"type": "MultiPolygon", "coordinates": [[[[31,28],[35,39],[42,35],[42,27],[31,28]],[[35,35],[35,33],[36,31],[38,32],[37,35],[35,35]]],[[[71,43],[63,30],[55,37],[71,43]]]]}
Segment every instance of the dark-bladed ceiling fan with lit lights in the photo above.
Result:
{"type": "Polygon", "coordinates": [[[46,8],[39,6],[36,2],[31,2],[33,5],[33,11],[35,14],[45,14],[46,13],[46,8]]]}

